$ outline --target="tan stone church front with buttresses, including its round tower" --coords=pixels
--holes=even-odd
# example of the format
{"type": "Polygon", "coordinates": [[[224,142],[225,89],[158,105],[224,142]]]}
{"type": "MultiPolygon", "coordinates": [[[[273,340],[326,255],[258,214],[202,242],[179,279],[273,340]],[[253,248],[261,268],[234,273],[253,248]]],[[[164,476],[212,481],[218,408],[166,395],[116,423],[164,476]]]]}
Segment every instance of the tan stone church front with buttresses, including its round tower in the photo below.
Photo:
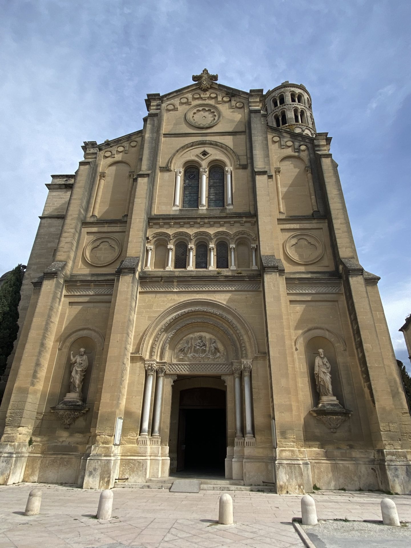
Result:
{"type": "MultiPolygon", "coordinates": [[[[411,492],[411,423],[303,85],[206,70],[52,175],[5,389],[0,481],[179,471],[411,492]]],[[[127,478],[127,480],[125,479],[127,478]]]]}

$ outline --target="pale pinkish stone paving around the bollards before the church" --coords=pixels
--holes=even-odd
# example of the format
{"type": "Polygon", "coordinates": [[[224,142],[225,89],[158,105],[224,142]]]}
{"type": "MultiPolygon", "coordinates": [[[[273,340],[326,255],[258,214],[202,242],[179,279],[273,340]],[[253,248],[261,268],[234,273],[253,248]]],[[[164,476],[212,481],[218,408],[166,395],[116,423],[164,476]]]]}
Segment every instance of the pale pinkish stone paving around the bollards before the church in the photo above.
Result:
{"type": "MultiPolygon", "coordinates": [[[[0,487],[0,548],[268,548],[303,546],[292,526],[300,496],[231,492],[233,526],[219,526],[222,492],[169,493],[162,489],[113,489],[113,517],[95,519],[99,490],[48,484],[0,487]],[[38,516],[24,516],[28,493],[41,487],[38,516]]],[[[382,493],[317,492],[319,518],[380,520],[382,493]]],[[[411,521],[409,496],[394,496],[399,519],[411,521]]],[[[366,544],[363,544],[366,546],[366,544]]]]}

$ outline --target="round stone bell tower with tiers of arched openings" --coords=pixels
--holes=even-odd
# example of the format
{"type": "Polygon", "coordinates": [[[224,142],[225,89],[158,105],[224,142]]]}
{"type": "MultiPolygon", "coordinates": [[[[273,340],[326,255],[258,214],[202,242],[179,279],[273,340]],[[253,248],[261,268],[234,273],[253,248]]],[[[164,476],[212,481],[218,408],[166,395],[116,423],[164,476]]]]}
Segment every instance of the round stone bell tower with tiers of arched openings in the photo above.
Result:
{"type": "Polygon", "coordinates": [[[311,96],[304,85],[283,82],[266,93],[265,103],[269,125],[315,136],[311,96]]]}

